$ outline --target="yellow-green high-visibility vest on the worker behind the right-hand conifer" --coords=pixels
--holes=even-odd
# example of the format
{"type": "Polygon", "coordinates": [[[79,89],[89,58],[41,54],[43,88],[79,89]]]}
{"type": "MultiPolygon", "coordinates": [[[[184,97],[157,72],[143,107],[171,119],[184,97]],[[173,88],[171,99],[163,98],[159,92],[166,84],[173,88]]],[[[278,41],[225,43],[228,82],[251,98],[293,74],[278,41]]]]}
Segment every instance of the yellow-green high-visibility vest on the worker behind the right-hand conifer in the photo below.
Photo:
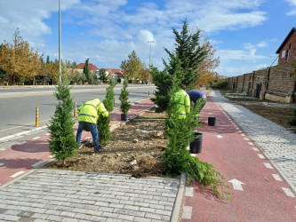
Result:
{"type": "Polygon", "coordinates": [[[180,90],[174,94],[175,101],[178,101],[177,109],[179,119],[186,118],[186,114],[190,112],[190,98],[186,91],[180,90]]]}

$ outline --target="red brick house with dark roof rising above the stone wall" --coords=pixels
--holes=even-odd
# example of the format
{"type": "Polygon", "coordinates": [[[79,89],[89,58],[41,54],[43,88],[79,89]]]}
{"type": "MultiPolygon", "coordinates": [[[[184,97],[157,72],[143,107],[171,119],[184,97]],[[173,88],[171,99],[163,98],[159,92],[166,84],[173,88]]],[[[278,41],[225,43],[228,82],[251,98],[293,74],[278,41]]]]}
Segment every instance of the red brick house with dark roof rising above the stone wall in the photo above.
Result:
{"type": "Polygon", "coordinates": [[[278,54],[278,65],[291,63],[296,59],[296,27],[285,37],[276,54],[278,54]]]}

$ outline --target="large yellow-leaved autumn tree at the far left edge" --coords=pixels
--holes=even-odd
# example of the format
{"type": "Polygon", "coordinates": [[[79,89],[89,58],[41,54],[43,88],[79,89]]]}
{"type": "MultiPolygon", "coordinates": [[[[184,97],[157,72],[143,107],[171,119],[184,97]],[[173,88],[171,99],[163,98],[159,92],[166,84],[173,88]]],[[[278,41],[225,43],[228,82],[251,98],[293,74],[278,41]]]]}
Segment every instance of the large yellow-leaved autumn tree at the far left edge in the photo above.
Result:
{"type": "Polygon", "coordinates": [[[42,68],[38,52],[29,46],[17,29],[12,44],[4,41],[0,49],[0,67],[5,71],[8,82],[19,83],[25,77],[34,78],[42,68]]]}

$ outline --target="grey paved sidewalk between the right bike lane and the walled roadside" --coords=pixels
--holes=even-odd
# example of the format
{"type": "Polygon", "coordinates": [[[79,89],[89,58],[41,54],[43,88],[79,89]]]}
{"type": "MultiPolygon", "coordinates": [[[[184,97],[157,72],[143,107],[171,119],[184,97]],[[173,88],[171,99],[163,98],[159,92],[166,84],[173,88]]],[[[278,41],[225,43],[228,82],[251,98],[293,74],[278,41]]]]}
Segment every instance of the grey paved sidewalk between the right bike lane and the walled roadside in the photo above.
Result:
{"type": "Polygon", "coordinates": [[[212,99],[230,115],[284,174],[296,192],[296,134],[212,92],[212,99]]]}

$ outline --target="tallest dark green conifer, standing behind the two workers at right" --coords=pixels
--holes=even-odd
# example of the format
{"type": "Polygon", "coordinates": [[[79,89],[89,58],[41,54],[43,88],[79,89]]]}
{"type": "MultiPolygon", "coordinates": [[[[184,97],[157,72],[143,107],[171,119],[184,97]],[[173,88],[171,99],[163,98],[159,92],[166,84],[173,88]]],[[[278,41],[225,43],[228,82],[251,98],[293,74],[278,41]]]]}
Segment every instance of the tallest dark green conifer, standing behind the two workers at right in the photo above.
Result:
{"type": "Polygon", "coordinates": [[[187,85],[187,90],[196,88],[198,79],[198,67],[206,56],[204,46],[199,44],[200,30],[196,33],[188,34],[188,22],[184,21],[182,31],[178,33],[173,28],[176,48],[173,52],[164,49],[169,55],[168,63],[164,61],[164,71],[160,72],[156,67],[151,67],[153,83],[156,85],[156,98],[152,99],[160,112],[168,107],[169,88],[172,87],[172,75],[177,75],[180,83],[187,85]]]}

